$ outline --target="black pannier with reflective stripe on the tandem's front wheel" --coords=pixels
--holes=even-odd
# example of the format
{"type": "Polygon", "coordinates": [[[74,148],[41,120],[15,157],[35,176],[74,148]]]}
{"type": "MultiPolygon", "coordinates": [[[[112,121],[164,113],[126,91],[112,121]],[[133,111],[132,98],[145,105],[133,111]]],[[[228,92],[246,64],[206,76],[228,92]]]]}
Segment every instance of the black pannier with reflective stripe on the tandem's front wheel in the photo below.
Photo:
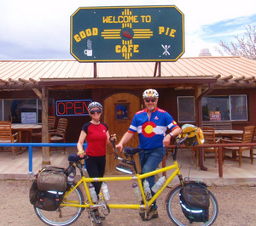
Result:
{"type": "Polygon", "coordinates": [[[209,220],[210,195],[207,184],[190,182],[179,193],[183,214],[189,223],[207,222],[209,220]]]}

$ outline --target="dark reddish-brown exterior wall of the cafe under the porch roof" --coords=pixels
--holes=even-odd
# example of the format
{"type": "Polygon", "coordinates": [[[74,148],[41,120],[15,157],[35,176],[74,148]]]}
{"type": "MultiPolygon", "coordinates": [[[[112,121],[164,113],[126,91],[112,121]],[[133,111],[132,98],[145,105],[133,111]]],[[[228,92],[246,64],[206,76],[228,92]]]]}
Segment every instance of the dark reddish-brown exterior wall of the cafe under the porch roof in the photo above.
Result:
{"type": "MultiPolygon", "coordinates": [[[[194,90],[174,90],[173,88],[156,88],[160,93],[159,107],[167,110],[177,120],[177,96],[194,95],[194,90]]],[[[141,97],[144,88],[126,89],[141,97]]],[[[125,92],[125,89],[96,88],[92,90],[49,90],[49,98],[58,99],[92,99],[103,103],[103,99],[112,93],[125,92]]],[[[256,125],[256,89],[219,89],[213,90],[211,95],[247,94],[249,121],[233,122],[234,129],[242,129],[247,125],[256,125]]],[[[0,99],[37,99],[38,96],[32,90],[4,91],[0,92],[0,99]]],[[[144,105],[143,105],[144,108],[144,105]]],[[[79,133],[85,122],[90,121],[90,116],[67,116],[67,142],[77,142],[79,133]]],[[[178,122],[178,121],[177,121],[178,122]]]]}

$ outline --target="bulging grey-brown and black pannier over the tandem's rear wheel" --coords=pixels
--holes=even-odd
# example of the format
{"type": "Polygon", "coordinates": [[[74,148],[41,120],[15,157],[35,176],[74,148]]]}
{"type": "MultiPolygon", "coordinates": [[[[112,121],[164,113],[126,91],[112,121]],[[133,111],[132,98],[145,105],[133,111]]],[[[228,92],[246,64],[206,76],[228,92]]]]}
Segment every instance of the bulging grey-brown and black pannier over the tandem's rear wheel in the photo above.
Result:
{"type": "Polygon", "coordinates": [[[29,191],[32,205],[46,211],[55,211],[67,190],[67,172],[61,167],[45,167],[37,175],[29,191]]]}

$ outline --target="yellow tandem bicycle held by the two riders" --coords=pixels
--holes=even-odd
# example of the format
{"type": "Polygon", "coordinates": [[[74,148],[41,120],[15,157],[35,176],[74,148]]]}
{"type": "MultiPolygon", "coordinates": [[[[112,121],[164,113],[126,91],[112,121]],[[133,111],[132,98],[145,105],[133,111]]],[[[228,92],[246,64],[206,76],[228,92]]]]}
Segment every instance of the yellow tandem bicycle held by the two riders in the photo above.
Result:
{"type": "MultiPolygon", "coordinates": [[[[186,137],[187,138],[187,137],[186,137]]],[[[162,194],[165,189],[169,189],[168,186],[172,179],[176,176],[179,179],[179,184],[174,186],[168,194],[166,195],[166,212],[168,217],[171,219],[172,223],[175,225],[188,225],[189,223],[192,224],[193,222],[193,210],[186,210],[190,212],[192,215],[192,220],[186,218],[182,206],[181,206],[181,199],[180,199],[180,191],[183,189],[184,186],[187,184],[199,184],[195,181],[189,181],[183,179],[181,175],[180,169],[177,164],[177,148],[178,145],[181,144],[184,139],[186,138],[177,138],[175,141],[175,149],[172,153],[173,164],[171,166],[163,167],[157,169],[153,172],[147,172],[144,174],[140,174],[137,172],[136,161],[134,161],[134,155],[137,154],[139,151],[142,151],[139,148],[128,148],[124,149],[125,158],[121,158],[118,156],[118,151],[115,148],[115,144],[113,141],[113,150],[115,153],[115,158],[121,161],[122,163],[132,167],[134,172],[132,175],[125,175],[125,176],[116,176],[116,177],[106,177],[106,178],[86,178],[84,176],[83,171],[83,163],[79,155],[70,154],[68,156],[68,161],[70,165],[74,165],[79,168],[81,178],[79,181],[73,181],[71,188],[65,193],[64,199],[61,205],[55,211],[44,211],[36,206],[34,206],[34,210],[40,218],[41,221],[48,225],[69,225],[74,223],[79,219],[82,213],[87,212],[88,218],[90,218],[91,225],[101,225],[101,219],[95,215],[94,210],[98,210],[104,216],[108,216],[110,210],[112,208],[123,208],[123,209],[137,209],[140,212],[147,212],[149,207],[154,203],[154,201],[162,194]],[[166,178],[166,181],[160,189],[155,192],[155,194],[148,199],[147,195],[144,193],[143,189],[143,180],[150,176],[156,175],[158,173],[173,171],[170,176],[166,178]],[[110,182],[110,181],[131,181],[137,182],[137,186],[140,190],[142,201],[138,201],[137,204],[131,203],[123,203],[123,204],[111,204],[108,203],[110,201],[104,200],[102,193],[98,197],[98,201],[93,203],[92,198],[90,196],[90,189],[89,184],[91,182],[110,182]],[[83,191],[82,191],[83,190],[83,191]]],[[[126,148],[126,147],[125,147],[126,148]]],[[[116,191],[119,192],[119,191],[116,191]]],[[[212,192],[207,189],[207,194],[209,197],[209,205],[207,209],[207,218],[203,222],[196,222],[194,218],[194,225],[212,225],[218,216],[218,202],[212,192]]],[[[195,211],[196,212],[196,211],[195,211]]],[[[189,213],[189,214],[190,214],[189,213]]],[[[106,219],[107,221],[107,219],[106,219]]],[[[143,222],[142,222],[143,223],[143,222]]]]}

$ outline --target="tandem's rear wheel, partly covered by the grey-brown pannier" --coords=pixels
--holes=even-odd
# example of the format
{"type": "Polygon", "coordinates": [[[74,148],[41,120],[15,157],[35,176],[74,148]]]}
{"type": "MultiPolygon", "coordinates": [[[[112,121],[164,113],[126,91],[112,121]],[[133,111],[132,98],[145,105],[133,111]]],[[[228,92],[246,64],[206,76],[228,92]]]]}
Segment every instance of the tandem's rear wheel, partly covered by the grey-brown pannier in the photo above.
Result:
{"type": "MultiPolygon", "coordinates": [[[[75,186],[75,183],[72,184],[72,187],[75,186]]],[[[79,201],[79,204],[84,203],[84,195],[79,189],[75,188],[73,192],[64,199],[63,203],[67,203],[67,200],[70,201],[79,201]]],[[[56,211],[44,211],[34,206],[34,211],[36,212],[38,218],[47,225],[52,226],[66,226],[74,223],[81,216],[81,213],[84,211],[82,207],[73,207],[73,206],[59,206],[56,211]]]]}

